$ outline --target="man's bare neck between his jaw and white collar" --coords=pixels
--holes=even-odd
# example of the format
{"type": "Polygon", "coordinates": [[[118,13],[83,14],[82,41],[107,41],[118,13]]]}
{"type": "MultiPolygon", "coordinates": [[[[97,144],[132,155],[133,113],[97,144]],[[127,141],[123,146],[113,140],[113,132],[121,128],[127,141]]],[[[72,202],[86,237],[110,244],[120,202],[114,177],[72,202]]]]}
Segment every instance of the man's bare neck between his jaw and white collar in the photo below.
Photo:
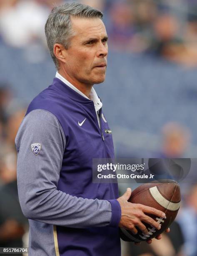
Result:
{"type": "Polygon", "coordinates": [[[89,98],[93,84],[85,84],[77,81],[76,79],[70,77],[63,69],[59,69],[58,73],[89,98]]]}

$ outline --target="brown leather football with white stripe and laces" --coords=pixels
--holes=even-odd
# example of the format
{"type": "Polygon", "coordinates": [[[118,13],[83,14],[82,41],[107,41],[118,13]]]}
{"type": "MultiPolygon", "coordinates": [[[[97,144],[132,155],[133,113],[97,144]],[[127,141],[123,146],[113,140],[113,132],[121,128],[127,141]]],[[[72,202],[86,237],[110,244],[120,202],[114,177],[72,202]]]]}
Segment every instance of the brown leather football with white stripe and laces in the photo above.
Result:
{"type": "Polygon", "coordinates": [[[125,241],[142,242],[160,235],[169,228],[170,224],[175,220],[180,208],[180,200],[180,186],[174,180],[167,180],[165,182],[154,181],[137,187],[132,192],[128,202],[147,205],[154,207],[157,210],[161,210],[162,212],[165,212],[166,219],[147,214],[161,224],[160,230],[157,230],[155,227],[143,222],[147,227],[147,230],[149,230],[148,235],[142,233],[142,231],[137,227],[138,233],[136,235],[134,235],[130,230],[121,228],[121,238],[125,241]]]}

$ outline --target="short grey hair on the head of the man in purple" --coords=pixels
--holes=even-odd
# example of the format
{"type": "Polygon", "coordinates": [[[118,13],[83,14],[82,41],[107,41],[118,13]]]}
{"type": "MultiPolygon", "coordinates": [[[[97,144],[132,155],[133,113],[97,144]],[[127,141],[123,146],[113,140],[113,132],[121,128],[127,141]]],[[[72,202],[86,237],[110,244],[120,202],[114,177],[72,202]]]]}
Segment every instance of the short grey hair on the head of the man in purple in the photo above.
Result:
{"type": "Polygon", "coordinates": [[[52,9],[45,24],[45,34],[47,45],[57,70],[59,69],[59,62],[53,53],[53,46],[57,43],[62,44],[65,49],[69,48],[70,38],[74,35],[70,19],[71,15],[81,18],[100,18],[101,20],[103,17],[100,10],[76,2],[65,3],[52,9]]]}

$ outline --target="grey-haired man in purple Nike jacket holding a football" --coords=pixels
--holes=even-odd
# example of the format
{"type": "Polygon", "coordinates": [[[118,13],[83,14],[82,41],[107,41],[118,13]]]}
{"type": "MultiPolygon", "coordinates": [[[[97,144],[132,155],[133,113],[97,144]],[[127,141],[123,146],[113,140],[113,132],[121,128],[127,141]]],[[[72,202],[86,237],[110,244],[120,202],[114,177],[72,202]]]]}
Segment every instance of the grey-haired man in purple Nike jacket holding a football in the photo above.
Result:
{"type": "Polygon", "coordinates": [[[117,184],[92,183],[92,159],[114,158],[93,89],[107,67],[102,13],[67,3],[52,10],[45,33],[56,78],[30,103],[15,140],[29,256],[120,256],[119,227],[147,233],[142,220],[160,226],[144,212],[165,214],[127,202],[131,189],[116,200],[117,184]]]}

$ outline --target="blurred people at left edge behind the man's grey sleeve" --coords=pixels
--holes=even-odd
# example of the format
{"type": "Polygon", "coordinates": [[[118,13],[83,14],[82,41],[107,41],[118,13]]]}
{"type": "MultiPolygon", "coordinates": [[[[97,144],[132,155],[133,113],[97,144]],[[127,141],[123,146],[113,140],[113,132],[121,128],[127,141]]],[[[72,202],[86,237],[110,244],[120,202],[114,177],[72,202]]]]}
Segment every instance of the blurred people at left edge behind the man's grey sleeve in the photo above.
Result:
{"type": "Polygon", "coordinates": [[[17,195],[15,150],[25,109],[17,107],[12,97],[8,84],[0,84],[0,247],[22,247],[22,237],[28,231],[17,195]]]}

